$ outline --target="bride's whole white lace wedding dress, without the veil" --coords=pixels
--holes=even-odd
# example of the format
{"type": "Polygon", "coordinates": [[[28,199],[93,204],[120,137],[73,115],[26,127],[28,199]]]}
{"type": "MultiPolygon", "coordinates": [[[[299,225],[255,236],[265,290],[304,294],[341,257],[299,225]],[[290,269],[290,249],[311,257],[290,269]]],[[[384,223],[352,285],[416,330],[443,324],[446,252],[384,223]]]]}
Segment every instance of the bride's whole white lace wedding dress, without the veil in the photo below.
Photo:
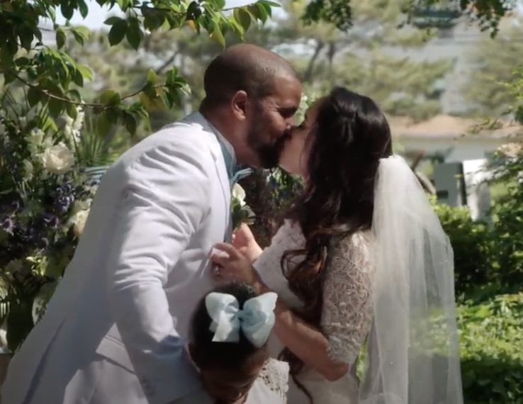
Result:
{"type": "MultiPolygon", "coordinates": [[[[281,257],[289,249],[303,249],[305,238],[298,225],[290,221],[279,229],[271,245],[264,249],[254,267],[263,281],[291,308],[303,303],[289,288],[281,271],[281,257]]],[[[356,357],[369,333],[372,313],[371,278],[373,262],[371,232],[358,232],[339,243],[325,273],[321,327],[329,341],[330,357],[351,365],[351,370],[338,381],[327,381],[313,369],[305,368],[298,381],[312,395],[315,404],[356,404],[358,379],[356,357]]],[[[296,259],[299,259],[296,258],[296,259]]],[[[269,340],[272,357],[277,357],[283,344],[276,336],[269,340]]],[[[307,404],[308,398],[289,379],[288,404],[307,404]]]]}

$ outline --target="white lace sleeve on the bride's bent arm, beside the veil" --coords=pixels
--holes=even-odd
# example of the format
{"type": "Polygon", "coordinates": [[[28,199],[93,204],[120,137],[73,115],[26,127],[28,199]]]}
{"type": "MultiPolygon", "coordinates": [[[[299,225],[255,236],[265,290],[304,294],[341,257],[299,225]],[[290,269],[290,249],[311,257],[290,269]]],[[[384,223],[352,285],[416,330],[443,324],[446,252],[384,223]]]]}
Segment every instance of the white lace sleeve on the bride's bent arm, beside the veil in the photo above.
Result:
{"type": "Polygon", "coordinates": [[[356,233],[334,249],[323,286],[322,330],[329,356],[347,364],[356,361],[372,320],[369,237],[356,233]]]}

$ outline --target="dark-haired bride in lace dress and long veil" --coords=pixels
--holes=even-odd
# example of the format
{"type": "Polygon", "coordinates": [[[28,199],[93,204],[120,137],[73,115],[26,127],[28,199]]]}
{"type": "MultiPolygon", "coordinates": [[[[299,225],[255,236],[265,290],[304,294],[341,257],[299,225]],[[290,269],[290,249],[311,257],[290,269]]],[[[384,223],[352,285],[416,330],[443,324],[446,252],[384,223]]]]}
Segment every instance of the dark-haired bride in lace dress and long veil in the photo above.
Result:
{"type": "Polygon", "coordinates": [[[305,191],[270,247],[243,226],[213,261],[278,294],[269,349],[290,364],[288,403],[461,404],[452,249],[383,113],[334,89],[281,167],[305,191]]]}

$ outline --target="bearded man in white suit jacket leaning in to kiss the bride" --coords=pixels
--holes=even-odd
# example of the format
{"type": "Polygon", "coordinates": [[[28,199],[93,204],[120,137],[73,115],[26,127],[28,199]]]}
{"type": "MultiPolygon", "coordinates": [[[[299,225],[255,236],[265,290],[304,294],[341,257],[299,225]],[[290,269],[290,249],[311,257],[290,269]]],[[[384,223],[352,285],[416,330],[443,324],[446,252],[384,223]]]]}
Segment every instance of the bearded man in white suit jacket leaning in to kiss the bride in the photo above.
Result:
{"type": "Polygon", "coordinates": [[[274,167],[301,97],[292,67],[254,45],[205,73],[200,112],[154,133],[101,181],[64,279],[11,361],[4,404],[168,404],[200,384],[184,345],[230,232],[237,164],[274,167]]]}

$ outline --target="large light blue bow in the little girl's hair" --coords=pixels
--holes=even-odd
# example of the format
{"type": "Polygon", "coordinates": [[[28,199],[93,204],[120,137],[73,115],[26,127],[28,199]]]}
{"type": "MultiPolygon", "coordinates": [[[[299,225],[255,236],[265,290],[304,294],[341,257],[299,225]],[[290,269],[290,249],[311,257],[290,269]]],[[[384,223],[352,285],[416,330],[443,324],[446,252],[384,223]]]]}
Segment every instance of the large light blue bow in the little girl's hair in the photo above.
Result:
{"type": "Polygon", "coordinates": [[[213,322],[213,342],[238,342],[240,329],[255,347],[263,347],[274,327],[274,308],[278,295],[274,292],[245,301],[243,309],[228,293],[212,292],[206,296],[206,308],[213,322]]]}

